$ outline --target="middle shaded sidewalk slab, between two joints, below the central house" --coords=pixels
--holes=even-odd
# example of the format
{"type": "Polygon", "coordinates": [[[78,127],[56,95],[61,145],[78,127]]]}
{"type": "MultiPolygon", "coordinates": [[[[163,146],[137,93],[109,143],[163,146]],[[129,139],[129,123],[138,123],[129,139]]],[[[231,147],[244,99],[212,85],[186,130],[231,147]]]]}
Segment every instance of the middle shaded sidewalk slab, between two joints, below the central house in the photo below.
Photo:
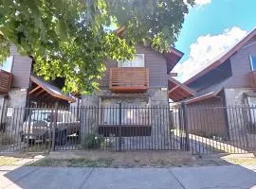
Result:
{"type": "Polygon", "coordinates": [[[83,189],[182,189],[163,168],[98,168],[83,189]]]}

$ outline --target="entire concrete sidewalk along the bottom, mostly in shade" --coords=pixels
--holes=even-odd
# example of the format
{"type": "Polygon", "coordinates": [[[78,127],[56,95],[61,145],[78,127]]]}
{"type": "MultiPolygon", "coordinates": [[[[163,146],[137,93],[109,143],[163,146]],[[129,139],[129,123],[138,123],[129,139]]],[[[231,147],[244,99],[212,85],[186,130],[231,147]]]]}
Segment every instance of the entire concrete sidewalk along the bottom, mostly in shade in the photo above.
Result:
{"type": "Polygon", "coordinates": [[[175,168],[0,167],[0,188],[256,189],[256,167],[175,168]]]}

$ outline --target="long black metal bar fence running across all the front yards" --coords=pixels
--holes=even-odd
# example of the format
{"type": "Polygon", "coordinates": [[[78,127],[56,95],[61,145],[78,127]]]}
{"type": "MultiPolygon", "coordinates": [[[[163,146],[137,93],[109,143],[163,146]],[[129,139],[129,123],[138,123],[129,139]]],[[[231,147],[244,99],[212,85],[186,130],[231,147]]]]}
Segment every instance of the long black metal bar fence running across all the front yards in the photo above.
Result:
{"type": "Polygon", "coordinates": [[[256,108],[0,108],[0,153],[51,150],[256,150],[256,108]]]}

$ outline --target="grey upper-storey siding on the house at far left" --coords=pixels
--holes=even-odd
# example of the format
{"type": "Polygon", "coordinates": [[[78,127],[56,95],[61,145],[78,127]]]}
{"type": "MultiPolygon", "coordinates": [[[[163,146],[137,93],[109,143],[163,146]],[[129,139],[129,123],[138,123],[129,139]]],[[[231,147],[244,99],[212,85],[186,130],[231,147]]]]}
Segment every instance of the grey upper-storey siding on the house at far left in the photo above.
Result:
{"type": "Polygon", "coordinates": [[[12,82],[11,87],[27,89],[29,86],[29,77],[31,74],[32,60],[29,57],[14,55],[12,64],[12,82]]]}

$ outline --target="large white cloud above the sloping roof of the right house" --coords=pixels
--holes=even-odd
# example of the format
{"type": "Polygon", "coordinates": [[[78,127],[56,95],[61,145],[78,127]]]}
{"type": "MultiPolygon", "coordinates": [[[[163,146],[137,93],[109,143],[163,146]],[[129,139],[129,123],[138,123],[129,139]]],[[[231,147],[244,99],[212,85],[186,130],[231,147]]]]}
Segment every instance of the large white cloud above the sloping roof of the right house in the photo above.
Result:
{"type": "Polygon", "coordinates": [[[219,35],[206,35],[197,38],[195,43],[190,46],[190,55],[188,60],[178,63],[174,67],[174,72],[178,73],[177,79],[184,82],[190,77],[193,77],[198,72],[210,65],[212,60],[224,53],[235,43],[238,43],[247,31],[232,27],[225,29],[219,35]]]}

